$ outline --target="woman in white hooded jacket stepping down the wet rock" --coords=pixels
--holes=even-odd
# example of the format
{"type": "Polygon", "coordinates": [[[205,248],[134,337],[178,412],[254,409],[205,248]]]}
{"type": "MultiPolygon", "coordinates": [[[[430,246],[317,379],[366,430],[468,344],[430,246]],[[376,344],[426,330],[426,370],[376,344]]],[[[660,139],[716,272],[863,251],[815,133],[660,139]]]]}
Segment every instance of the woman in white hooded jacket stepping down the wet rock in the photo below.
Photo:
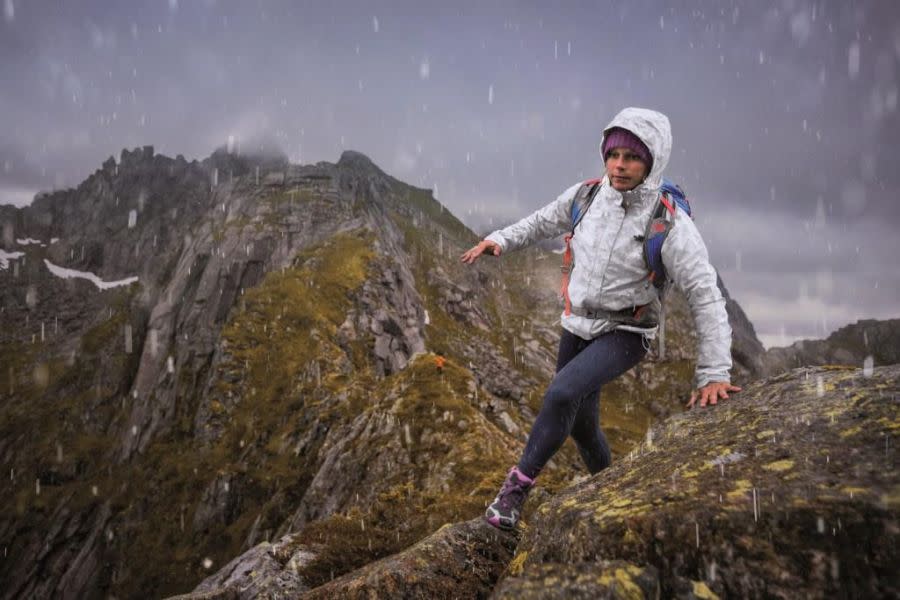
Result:
{"type": "Polygon", "coordinates": [[[485,513],[487,521],[501,529],[515,528],[535,478],[570,434],[591,473],[609,466],[609,445],[599,427],[600,389],[640,362],[659,329],[663,288],[659,279],[654,281],[653,271],[648,276],[645,258],[645,240],[653,232],[667,231],[661,238],[664,278],[684,292],[699,336],[687,407],[697,400],[701,407],[714,405],[729,392],[740,391],[730,384],[731,327],[725,300],[694,222],[671,198],[657,213],[668,220],[652,219],[668,197],[661,190],[670,185],[662,179],[672,150],[669,119],[656,111],[626,108],[604,129],[600,148],[606,167],[602,179],[573,185],[556,201],[494,231],[461,257],[472,264],[482,254],[500,256],[570,232],[566,259],[574,265],[563,269],[569,272],[563,278],[565,310],[556,375],[518,464],[485,513]],[[590,194],[590,203],[573,223],[573,210],[590,194]]]}

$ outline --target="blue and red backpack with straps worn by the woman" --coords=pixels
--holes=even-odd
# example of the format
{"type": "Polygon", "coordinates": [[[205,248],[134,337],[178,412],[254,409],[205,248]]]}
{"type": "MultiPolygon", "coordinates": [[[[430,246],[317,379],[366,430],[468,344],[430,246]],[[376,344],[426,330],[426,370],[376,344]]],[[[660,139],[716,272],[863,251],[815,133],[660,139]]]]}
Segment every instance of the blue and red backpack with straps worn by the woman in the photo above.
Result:
{"type": "MultiPolygon", "coordinates": [[[[597,191],[602,185],[602,179],[590,179],[581,184],[575,193],[575,199],[572,203],[572,231],[566,234],[566,250],[563,254],[563,282],[561,287],[561,295],[565,300],[566,314],[571,314],[572,306],[569,301],[568,286],[569,273],[572,267],[572,249],[570,241],[575,235],[575,228],[581,223],[581,219],[590,208],[591,202],[594,200],[597,191]]],[[[635,236],[635,239],[644,244],[644,263],[647,265],[647,278],[659,291],[660,299],[660,315],[659,315],[659,355],[660,359],[665,356],[665,304],[663,300],[668,291],[669,278],[666,274],[665,266],[662,261],[662,247],[666,241],[666,237],[672,230],[675,223],[675,211],[680,208],[687,215],[693,218],[691,205],[684,194],[684,191],[675,183],[663,178],[662,185],[659,188],[659,198],[656,207],[653,209],[650,220],[643,236],[635,236]]],[[[608,313],[609,318],[624,320],[629,323],[638,323],[645,306],[639,306],[635,310],[619,311],[618,313],[608,313]]]]}

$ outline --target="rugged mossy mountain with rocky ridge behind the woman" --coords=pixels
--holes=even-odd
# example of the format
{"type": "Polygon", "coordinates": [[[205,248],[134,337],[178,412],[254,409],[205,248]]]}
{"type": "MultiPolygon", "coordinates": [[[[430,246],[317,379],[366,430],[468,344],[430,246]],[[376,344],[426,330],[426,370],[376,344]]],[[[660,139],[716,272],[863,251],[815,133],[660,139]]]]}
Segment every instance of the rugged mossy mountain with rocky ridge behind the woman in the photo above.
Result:
{"type": "MultiPolygon", "coordinates": [[[[328,582],[479,515],[555,368],[558,257],[461,265],[476,236],[359,153],[123,151],[0,220],[3,598],[186,592],[271,540],[328,582]]],[[[666,360],[603,392],[617,456],[689,391],[671,302],[666,360]]]]}

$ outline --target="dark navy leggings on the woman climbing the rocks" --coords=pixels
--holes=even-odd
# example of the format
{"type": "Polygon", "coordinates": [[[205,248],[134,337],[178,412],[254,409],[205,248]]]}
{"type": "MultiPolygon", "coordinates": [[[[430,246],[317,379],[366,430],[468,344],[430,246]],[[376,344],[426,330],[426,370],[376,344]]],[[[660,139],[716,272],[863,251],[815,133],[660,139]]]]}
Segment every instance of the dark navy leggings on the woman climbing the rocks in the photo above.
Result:
{"type": "Polygon", "coordinates": [[[600,388],[641,361],[647,353],[642,337],[615,330],[585,340],[563,329],[556,375],[519,460],[520,471],[537,477],[570,433],[591,473],[609,466],[609,444],[600,430],[600,388]]]}

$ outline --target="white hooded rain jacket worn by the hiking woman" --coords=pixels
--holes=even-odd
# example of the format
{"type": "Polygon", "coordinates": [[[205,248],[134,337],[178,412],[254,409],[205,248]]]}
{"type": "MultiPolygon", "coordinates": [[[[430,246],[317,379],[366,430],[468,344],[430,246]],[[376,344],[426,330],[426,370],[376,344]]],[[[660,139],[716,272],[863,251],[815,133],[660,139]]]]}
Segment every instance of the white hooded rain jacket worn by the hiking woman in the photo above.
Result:
{"type": "MultiPolygon", "coordinates": [[[[620,311],[648,305],[652,320],[659,313],[656,287],[647,279],[643,242],[647,223],[659,196],[662,174],[672,153],[672,130],[662,113],[626,108],[603,131],[621,127],[641,139],[653,155],[646,179],[632,190],[619,192],[606,176],[593,202],[572,237],[574,265],[569,279],[573,307],[586,310],[620,311]]],[[[494,231],[485,239],[503,252],[556,237],[572,227],[572,204],[582,182],[576,183],[552,203],[521,221],[494,231]]],[[[716,285],[716,271],[709,263],[706,245],[690,216],[676,210],[675,223],[662,247],[666,273],[687,297],[700,338],[694,385],[729,381],[731,327],[725,299],[716,285]]],[[[613,329],[638,331],[652,339],[657,327],[640,328],[607,319],[576,314],[561,315],[562,326],[583,339],[593,339],[613,329]]]]}

